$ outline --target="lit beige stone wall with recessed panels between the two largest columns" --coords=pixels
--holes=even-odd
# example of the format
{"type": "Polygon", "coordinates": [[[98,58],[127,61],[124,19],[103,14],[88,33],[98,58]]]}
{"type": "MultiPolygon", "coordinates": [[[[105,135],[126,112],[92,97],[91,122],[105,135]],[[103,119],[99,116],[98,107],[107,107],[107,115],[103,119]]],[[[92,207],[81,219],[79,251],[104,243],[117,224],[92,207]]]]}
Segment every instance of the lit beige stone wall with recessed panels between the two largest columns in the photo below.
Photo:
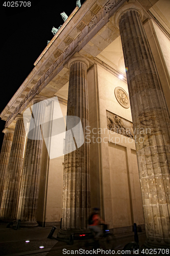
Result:
{"type": "MultiPolygon", "coordinates": [[[[130,108],[124,108],[115,97],[115,88],[128,94],[127,84],[101,66],[88,72],[89,108],[97,102],[97,113],[89,111],[91,186],[99,190],[101,214],[114,233],[132,231],[132,225],[143,226],[143,211],[135,141],[132,136],[110,131],[107,116],[115,116],[132,129],[130,108]],[[94,79],[95,78],[95,79],[94,79]],[[92,93],[93,92],[93,93],[92,93]],[[94,134],[96,133],[96,134],[94,134]],[[94,136],[94,138],[92,138],[94,136]],[[96,154],[97,153],[97,154],[96,154]],[[96,159],[99,164],[96,165],[96,159]],[[95,163],[95,164],[94,164],[95,163]],[[95,180],[96,173],[99,179],[95,180]]],[[[129,97],[128,97],[129,100],[129,97]]],[[[96,191],[91,189],[94,207],[96,191]]]]}

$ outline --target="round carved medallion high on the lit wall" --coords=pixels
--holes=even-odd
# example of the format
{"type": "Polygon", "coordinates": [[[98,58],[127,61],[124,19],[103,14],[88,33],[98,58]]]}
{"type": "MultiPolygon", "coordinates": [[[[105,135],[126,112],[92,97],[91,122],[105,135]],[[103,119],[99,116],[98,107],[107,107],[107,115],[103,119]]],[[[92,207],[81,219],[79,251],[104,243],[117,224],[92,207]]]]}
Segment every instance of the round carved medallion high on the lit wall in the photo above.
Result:
{"type": "Polygon", "coordinates": [[[114,94],[118,103],[124,108],[129,109],[130,101],[127,92],[121,87],[116,87],[114,89],[114,94]]]}

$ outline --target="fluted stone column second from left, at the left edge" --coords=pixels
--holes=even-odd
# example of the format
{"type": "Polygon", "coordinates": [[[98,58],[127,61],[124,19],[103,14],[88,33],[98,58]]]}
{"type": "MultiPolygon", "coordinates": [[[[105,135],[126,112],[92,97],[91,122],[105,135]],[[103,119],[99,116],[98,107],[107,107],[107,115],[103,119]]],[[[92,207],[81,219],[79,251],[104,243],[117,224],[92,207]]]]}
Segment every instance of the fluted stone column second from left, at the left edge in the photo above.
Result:
{"type": "Polygon", "coordinates": [[[4,185],[4,192],[0,210],[0,217],[3,220],[16,219],[16,206],[19,193],[19,182],[22,169],[23,150],[26,139],[25,127],[22,115],[16,118],[16,126],[11,146],[7,177],[4,185]]]}

